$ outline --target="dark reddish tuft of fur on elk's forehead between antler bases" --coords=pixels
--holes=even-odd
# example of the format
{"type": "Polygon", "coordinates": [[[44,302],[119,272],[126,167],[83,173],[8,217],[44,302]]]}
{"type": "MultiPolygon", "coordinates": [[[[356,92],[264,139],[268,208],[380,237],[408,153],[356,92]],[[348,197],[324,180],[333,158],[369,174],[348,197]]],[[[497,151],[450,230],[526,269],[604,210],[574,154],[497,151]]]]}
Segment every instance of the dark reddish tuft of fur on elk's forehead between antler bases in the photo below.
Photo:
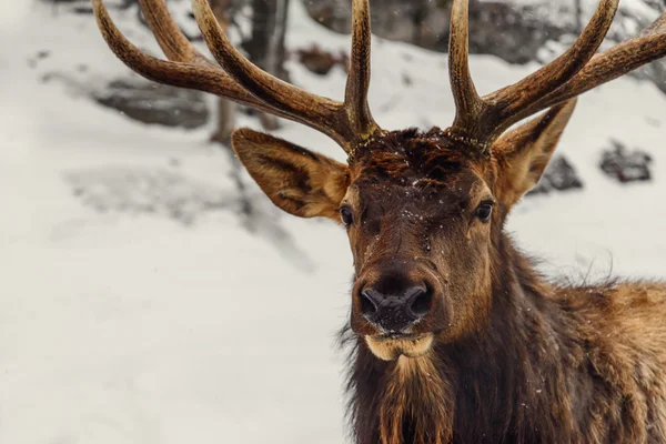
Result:
{"type": "Polygon", "coordinates": [[[360,147],[351,162],[356,184],[395,183],[418,180],[423,185],[451,185],[463,170],[485,175],[488,157],[453,142],[440,128],[394,131],[360,147]]]}

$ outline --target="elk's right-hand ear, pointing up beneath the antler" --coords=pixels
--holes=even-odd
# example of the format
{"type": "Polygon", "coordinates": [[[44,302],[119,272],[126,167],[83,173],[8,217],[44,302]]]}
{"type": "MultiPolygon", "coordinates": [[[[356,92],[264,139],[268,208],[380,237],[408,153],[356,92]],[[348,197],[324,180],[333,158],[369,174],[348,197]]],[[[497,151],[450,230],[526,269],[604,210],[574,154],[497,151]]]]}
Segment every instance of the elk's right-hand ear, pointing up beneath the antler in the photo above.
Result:
{"type": "Polygon", "coordinates": [[[568,123],[576,99],[504,133],[492,148],[498,167],[495,194],[509,208],[541,179],[568,123]]]}

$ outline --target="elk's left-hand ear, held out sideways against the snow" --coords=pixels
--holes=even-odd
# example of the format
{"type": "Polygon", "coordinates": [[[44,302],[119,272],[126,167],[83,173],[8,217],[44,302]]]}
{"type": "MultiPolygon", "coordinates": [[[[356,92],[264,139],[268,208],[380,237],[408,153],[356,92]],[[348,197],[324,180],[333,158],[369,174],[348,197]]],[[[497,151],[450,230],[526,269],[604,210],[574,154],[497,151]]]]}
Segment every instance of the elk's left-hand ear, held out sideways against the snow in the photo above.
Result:
{"type": "Polygon", "coordinates": [[[340,202],[350,184],[347,165],[246,128],[233,133],[232,144],[275,205],[300,218],[340,220],[340,202]]]}

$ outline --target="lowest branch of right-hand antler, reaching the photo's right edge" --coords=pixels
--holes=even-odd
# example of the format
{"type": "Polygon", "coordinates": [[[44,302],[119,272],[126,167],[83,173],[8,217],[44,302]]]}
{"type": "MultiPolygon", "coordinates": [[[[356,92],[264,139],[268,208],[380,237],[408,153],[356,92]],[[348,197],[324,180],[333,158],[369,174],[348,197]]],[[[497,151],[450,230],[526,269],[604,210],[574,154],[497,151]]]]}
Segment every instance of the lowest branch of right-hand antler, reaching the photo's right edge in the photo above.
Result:
{"type": "Polygon", "coordinates": [[[638,37],[592,58],[572,80],[518,115],[524,119],[666,57],[666,12],[638,37]]]}

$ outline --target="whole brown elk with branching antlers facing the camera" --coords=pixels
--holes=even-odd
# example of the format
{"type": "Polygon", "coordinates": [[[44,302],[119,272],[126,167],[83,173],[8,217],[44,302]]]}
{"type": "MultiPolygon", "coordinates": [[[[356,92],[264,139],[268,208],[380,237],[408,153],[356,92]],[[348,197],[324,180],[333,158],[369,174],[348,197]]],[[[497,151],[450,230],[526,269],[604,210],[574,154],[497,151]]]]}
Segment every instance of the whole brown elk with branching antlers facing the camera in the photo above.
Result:
{"type": "Polygon", "coordinates": [[[576,97],[666,56],[666,13],[597,53],[618,7],[601,0],[564,54],[481,97],[468,67],[467,0],[455,0],[455,120],[421,132],[383,130],[371,114],[369,0],[353,0],[342,102],[249,62],[206,0],[192,4],[216,63],[188,42],[164,0],[141,7],[170,61],[141,52],[102,1],[92,3],[109,47],[138,73],[303,123],[346,152],[344,164],[249,129],[232,138],[275,205],[346,229],[355,274],[343,336],[355,443],[666,442],[666,284],[556,284],[504,231],[576,97]]]}

